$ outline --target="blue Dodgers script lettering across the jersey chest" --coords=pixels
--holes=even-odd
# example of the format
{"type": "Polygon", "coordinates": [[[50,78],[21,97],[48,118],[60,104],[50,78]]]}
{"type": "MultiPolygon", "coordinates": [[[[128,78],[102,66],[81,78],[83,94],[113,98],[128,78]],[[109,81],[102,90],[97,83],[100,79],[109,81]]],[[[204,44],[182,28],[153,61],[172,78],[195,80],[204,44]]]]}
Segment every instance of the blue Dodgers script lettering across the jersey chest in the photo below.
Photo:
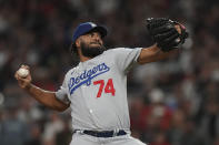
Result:
{"type": "Polygon", "coordinates": [[[82,84],[87,84],[89,86],[91,84],[91,80],[102,73],[106,73],[110,70],[106,63],[101,63],[92,69],[84,71],[77,77],[71,77],[68,83],[70,95],[73,93],[74,90],[80,87],[82,84]]]}

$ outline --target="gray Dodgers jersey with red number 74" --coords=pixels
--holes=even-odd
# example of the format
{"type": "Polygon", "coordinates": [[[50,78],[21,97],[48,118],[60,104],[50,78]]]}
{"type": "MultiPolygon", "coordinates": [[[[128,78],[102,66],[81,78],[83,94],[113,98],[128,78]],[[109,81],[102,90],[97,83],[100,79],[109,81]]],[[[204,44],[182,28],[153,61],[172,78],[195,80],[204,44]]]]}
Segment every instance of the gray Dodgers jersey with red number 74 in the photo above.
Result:
{"type": "Polygon", "coordinates": [[[141,48],[117,48],[80,62],[64,76],[56,92],[70,102],[74,130],[130,130],[127,103],[127,72],[141,48]]]}

